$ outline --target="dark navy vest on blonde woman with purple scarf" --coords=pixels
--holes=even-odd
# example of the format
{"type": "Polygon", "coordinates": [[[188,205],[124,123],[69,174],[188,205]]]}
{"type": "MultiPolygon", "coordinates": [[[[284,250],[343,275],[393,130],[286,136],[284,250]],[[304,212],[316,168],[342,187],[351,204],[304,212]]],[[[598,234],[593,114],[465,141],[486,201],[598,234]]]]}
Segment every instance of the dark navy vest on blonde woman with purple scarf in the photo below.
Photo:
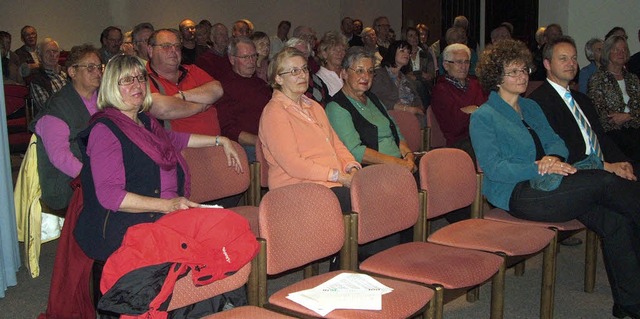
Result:
{"type": "MultiPolygon", "coordinates": [[[[140,113],[140,120],[147,129],[150,129],[150,120],[146,114],[140,113]]],[[[108,119],[102,118],[96,123],[106,125],[118,138],[122,145],[122,155],[125,168],[126,185],[128,192],[148,197],[160,197],[160,168],[156,163],[136,146],[127,136],[108,119]]],[[[79,136],[80,149],[82,151],[83,166],[80,177],[82,180],[82,193],[84,207],[78,217],[78,223],[74,229],[74,236],[87,256],[92,259],[106,260],[116,249],[120,247],[124,234],[130,226],[140,223],[151,223],[164,214],[149,213],[125,213],[108,210],[98,201],[93,176],[91,175],[91,162],[87,155],[87,143],[89,133],[95,126],[93,123],[79,136]]],[[[184,194],[184,170],[178,165],[178,194],[184,194]]]]}

